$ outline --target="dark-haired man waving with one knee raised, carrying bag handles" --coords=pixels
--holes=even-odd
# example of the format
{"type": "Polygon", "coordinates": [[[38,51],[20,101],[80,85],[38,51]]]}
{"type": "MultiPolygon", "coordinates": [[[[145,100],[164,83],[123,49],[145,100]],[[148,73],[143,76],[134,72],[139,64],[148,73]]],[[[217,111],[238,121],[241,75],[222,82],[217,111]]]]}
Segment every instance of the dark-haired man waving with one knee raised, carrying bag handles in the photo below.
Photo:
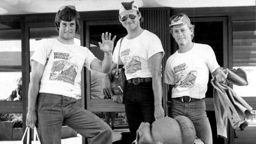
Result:
{"type": "Polygon", "coordinates": [[[26,125],[35,127],[38,120],[42,144],[60,144],[61,126],[66,124],[92,144],[111,144],[111,128],[95,114],[77,107],[73,90],[80,78],[83,66],[108,73],[112,65],[115,37],[102,33],[100,49],[104,59],[100,61],[86,47],[74,44],[75,32],[80,28],[80,16],[74,6],[59,8],[55,25],[57,39],[40,45],[33,56],[31,81],[28,91],[26,125]]]}

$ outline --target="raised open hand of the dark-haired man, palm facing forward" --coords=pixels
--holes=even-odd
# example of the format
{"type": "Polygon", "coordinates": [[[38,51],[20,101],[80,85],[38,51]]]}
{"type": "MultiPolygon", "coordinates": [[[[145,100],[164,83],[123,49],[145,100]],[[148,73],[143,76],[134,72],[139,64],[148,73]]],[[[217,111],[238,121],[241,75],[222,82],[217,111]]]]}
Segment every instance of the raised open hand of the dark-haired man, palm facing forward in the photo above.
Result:
{"type": "Polygon", "coordinates": [[[106,34],[102,33],[102,36],[101,36],[102,43],[98,42],[98,44],[100,46],[100,50],[102,50],[105,53],[107,53],[107,52],[112,53],[115,38],[116,38],[116,36],[114,36],[113,39],[111,40],[111,33],[109,33],[109,34],[108,34],[108,32],[106,32],[106,34]]]}

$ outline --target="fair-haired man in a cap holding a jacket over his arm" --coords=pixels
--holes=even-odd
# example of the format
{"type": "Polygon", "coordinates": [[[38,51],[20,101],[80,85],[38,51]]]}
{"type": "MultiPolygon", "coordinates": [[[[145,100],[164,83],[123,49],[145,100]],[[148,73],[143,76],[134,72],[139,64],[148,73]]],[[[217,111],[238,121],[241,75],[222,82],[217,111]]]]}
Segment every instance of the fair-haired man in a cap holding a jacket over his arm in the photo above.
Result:
{"type": "Polygon", "coordinates": [[[195,26],[185,13],[170,18],[171,34],[179,49],[167,59],[164,82],[169,84],[171,117],[184,115],[191,119],[197,136],[212,144],[210,122],[206,115],[205,93],[209,70],[216,81],[225,81],[228,71],[221,70],[211,46],[192,42],[195,26]]]}

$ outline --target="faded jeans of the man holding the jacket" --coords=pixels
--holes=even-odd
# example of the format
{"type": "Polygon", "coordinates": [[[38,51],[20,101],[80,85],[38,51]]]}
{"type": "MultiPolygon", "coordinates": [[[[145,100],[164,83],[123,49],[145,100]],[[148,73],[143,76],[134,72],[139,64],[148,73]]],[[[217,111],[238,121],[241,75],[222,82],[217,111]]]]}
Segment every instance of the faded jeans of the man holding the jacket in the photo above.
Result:
{"type": "Polygon", "coordinates": [[[205,144],[212,144],[211,126],[206,115],[204,100],[196,102],[181,102],[171,99],[171,118],[178,115],[187,116],[195,126],[197,137],[201,138],[205,144]]]}

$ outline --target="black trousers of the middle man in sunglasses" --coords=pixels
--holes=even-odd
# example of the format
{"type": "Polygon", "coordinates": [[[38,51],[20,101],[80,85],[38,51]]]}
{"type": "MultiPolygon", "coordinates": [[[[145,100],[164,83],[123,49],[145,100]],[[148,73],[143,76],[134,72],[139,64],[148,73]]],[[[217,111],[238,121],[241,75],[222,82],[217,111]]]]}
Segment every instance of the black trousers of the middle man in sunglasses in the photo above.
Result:
{"type": "Polygon", "coordinates": [[[155,121],[152,82],[126,85],[124,105],[132,140],[135,140],[141,122],[155,121]]]}

